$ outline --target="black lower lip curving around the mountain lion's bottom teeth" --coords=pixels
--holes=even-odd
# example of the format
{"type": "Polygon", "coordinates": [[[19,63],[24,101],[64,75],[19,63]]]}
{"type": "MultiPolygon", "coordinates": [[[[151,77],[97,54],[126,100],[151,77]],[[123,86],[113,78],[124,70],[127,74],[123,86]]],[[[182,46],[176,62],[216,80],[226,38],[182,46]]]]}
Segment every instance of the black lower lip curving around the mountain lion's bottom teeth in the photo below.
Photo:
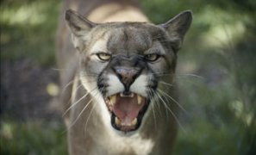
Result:
{"type": "MultiPolygon", "coordinates": [[[[150,104],[150,100],[147,98],[145,106],[140,110],[139,115],[137,116],[137,124],[136,124],[136,126],[134,127],[134,129],[126,131],[126,133],[127,132],[135,131],[135,130],[137,130],[140,127],[142,119],[143,119],[143,116],[146,114],[147,109],[149,107],[149,104],[150,104]]],[[[116,130],[122,131],[120,127],[116,126],[116,123],[115,123],[116,115],[113,112],[110,112],[110,115],[111,115],[111,126],[114,127],[116,130]]]]}

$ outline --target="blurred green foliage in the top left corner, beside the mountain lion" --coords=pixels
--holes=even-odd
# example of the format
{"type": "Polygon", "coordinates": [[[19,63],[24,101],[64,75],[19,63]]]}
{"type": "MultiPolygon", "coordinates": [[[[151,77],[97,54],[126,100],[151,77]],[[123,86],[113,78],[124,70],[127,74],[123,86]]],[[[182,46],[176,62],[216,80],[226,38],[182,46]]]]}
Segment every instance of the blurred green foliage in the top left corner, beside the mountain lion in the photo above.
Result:
{"type": "Polygon", "coordinates": [[[1,59],[53,65],[60,1],[1,1],[1,59]]]}

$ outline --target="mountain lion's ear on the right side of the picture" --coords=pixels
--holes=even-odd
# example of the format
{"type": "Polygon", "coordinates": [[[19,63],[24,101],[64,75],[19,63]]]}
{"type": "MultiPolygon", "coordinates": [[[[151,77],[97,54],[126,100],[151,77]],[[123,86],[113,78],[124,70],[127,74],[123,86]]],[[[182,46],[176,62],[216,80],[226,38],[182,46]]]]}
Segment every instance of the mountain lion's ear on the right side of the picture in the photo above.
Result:
{"type": "Polygon", "coordinates": [[[175,48],[178,50],[184,39],[184,35],[190,28],[192,22],[192,11],[185,10],[180,14],[174,16],[168,22],[160,24],[159,26],[165,28],[170,36],[170,39],[176,44],[175,48]]]}

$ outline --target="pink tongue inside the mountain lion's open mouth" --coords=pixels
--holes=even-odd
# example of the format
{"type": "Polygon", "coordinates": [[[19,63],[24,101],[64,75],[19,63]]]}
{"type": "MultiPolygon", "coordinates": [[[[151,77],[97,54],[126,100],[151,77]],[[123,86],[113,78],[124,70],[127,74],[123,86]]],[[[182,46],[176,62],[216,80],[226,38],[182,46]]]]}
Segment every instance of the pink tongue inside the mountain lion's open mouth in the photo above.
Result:
{"type": "Polygon", "coordinates": [[[143,106],[144,100],[142,99],[139,105],[136,94],[134,94],[134,97],[122,97],[118,94],[113,112],[122,122],[131,122],[138,116],[143,106]]]}

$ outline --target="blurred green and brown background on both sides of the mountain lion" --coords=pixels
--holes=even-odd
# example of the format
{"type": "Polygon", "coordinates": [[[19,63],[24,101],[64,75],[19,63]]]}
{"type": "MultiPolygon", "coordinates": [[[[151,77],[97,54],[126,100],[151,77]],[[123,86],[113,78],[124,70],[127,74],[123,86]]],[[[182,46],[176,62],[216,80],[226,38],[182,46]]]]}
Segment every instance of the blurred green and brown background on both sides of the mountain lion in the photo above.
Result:
{"type": "MultiPolygon", "coordinates": [[[[1,0],[0,154],[67,154],[54,40],[61,0],[1,0]]],[[[152,22],[194,20],[178,53],[174,154],[256,154],[256,1],[141,0],[152,22]]]]}

